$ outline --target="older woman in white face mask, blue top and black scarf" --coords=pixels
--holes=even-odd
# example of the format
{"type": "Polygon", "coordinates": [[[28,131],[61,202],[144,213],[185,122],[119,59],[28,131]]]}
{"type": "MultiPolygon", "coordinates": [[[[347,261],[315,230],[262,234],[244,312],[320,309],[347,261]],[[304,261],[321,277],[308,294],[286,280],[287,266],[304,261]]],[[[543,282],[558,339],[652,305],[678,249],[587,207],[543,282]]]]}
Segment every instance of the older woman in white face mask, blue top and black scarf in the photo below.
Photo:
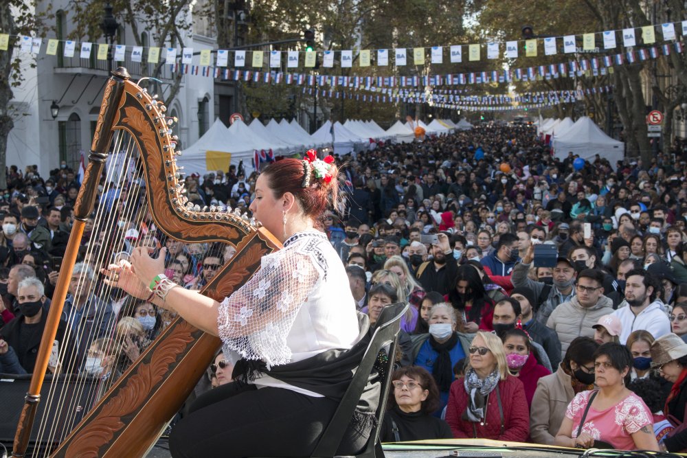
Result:
{"type": "Polygon", "coordinates": [[[427,369],[436,381],[440,398],[440,406],[435,412],[438,416],[449,400],[453,366],[468,354],[470,339],[462,332],[455,310],[446,302],[429,310],[427,323],[429,333],[411,337],[412,359],[414,365],[427,369]]]}

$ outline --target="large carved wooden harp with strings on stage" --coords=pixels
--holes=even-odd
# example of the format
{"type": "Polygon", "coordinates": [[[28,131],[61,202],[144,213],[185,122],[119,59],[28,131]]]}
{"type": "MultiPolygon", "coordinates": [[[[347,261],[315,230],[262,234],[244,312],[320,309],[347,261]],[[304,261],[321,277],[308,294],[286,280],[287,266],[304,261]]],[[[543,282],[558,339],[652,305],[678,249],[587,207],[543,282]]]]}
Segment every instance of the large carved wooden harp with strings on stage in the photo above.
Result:
{"type": "MultiPolygon", "coordinates": [[[[89,163],[74,205],[74,226],[16,430],[14,457],[25,456],[30,443],[71,271],[95,205],[100,176],[113,150],[114,135],[125,133],[139,154],[137,170],[147,188],[148,209],[162,232],[182,242],[225,242],[236,247],[231,262],[207,282],[202,294],[218,300],[230,295],[259,268],[263,255],[280,248],[278,240],[238,209],[201,209],[188,202],[179,181],[166,107],[132,82],[126,69],[120,67],[112,73],[104,89],[89,163]]],[[[183,319],[174,319],[76,426],[49,439],[43,453],[53,457],[144,456],[188,398],[220,343],[183,319]]]]}

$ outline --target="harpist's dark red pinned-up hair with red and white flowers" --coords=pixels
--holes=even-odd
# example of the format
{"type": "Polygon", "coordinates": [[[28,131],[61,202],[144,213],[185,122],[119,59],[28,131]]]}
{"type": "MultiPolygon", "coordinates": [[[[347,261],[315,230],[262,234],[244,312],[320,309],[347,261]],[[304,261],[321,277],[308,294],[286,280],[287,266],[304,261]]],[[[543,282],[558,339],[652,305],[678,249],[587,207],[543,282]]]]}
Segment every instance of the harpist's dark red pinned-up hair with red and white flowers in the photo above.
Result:
{"type": "Polygon", "coordinates": [[[303,187],[306,168],[300,159],[282,159],[267,165],[262,174],[267,179],[267,186],[275,198],[291,192],[300,203],[306,216],[315,220],[317,227],[322,227],[324,214],[328,208],[338,211],[339,207],[339,169],[332,163],[329,170],[332,179],[326,183],[315,177],[312,165],[308,166],[310,185],[303,187]]]}

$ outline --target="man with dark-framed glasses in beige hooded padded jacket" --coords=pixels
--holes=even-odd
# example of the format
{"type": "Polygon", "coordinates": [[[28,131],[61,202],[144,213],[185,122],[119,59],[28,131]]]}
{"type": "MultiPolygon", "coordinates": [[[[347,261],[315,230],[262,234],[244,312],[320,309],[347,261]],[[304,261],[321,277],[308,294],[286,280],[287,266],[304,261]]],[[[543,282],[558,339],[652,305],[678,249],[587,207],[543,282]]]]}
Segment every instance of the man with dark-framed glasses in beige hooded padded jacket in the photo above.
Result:
{"type": "Polygon", "coordinates": [[[577,295],[556,307],[546,321],[548,328],[558,334],[563,352],[576,337],[593,337],[592,325],[613,312],[613,301],[603,295],[603,274],[600,271],[587,268],[579,273],[575,290],[577,295]]]}

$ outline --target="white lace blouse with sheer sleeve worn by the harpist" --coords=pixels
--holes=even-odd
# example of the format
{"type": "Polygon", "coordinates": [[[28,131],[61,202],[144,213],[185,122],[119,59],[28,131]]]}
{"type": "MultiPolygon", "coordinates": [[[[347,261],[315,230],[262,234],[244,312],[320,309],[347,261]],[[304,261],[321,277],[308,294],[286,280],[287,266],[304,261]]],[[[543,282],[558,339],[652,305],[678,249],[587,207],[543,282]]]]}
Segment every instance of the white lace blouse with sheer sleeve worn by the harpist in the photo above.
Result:
{"type": "MultiPolygon", "coordinates": [[[[262,257],[249,281],[225,298],[218,316],[227,350],[273,365],[304,360],[334,348],[349,349],[358,321],[348,276],[326,235],[295,233],[284,248],[262,257]]],[[[305,392],[264,374],[258,387],[305,392]]]]}

